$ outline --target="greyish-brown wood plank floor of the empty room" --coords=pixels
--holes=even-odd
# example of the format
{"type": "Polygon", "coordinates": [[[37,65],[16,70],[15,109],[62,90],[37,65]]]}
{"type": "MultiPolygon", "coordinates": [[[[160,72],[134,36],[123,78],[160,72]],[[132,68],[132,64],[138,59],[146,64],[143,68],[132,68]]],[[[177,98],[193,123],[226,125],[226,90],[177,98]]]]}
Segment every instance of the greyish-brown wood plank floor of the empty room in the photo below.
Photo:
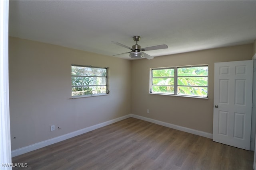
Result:
{"type": "Polygon", "coordinates": [[[29,170],[252,170],[254,152],[128,118],[12,158],[29,170]]]}

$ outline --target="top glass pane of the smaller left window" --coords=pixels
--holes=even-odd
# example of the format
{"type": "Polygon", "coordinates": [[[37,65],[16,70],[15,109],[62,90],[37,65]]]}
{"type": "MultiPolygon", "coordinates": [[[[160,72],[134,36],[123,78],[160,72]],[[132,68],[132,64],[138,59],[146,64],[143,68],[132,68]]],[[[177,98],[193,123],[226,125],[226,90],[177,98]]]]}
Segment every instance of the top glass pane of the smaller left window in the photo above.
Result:
{"type": "Polygon", "coordinates": [[[106,76],[106,68],[92,68],[82,66],[71,66],[72,76],[106,76]]]}

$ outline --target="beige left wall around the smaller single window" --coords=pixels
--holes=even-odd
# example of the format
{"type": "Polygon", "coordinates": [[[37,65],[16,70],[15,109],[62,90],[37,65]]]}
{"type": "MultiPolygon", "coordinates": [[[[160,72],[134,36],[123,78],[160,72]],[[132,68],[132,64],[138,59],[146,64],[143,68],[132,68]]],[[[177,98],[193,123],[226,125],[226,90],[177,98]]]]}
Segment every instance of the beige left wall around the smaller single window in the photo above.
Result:
{"type": "Polygon", "coordinates": [[[130,114],[130,82],[131,61],[10,37],[12,150],[130,114]],[[110,94],[71,99],[71,64],[109,67],[110,94]]]}

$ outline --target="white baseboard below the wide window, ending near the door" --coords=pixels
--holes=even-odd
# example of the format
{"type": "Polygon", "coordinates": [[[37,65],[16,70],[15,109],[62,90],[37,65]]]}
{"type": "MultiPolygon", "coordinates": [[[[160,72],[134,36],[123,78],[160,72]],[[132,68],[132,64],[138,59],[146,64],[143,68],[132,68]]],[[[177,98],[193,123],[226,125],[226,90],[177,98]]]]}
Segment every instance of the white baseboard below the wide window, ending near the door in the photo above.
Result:
{"type": "Polygon", "coordinates": [[[155,120],[155,119],[150,119],[148,117],[143,117],[143,116],[134,115],[134,114],[131,114],[131,117],[134,117],[136,119],[141,119],[141,120],[144,120],[144,121],[148,121],[148,122],[151,122],[151,123],[155,123],[155,124],[158,124],[158,125],[162,125],[162,126],[165,126],[165,127],[170,127],[172,129],[176,129],[176,130],[179,130],[179,131],[184,131],[184,132],[192,133],[194,135],[198,135],[198,136],[207,137],[207,138],[212,139],[212,133],[198,131],[198,130],[195,130],[195,129],[190,129],[190,128],[187,128],[187,127],[182,127],[182,126],[174,125],[174,124],[171,124],[171,123],[166,123],[166,122],[163,122],[163,121],[158,121],[158,120],[155,120]]]}

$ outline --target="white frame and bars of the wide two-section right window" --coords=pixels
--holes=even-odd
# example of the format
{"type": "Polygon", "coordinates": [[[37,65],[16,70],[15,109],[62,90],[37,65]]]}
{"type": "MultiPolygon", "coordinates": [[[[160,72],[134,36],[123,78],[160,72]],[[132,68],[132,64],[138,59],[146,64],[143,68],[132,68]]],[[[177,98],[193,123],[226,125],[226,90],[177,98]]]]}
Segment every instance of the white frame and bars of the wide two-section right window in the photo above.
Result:
{"type": "MultiPolygon", "coordinates": [[[[160,94],[160,95],[168,95],[168,96],[181,96],[181,97],[190,97],[190,98],[203,98],[203,99],[208,99],[208,94],[209,94],[209,80],[207,80],[207,86],[188,86],[188,87],[207,87],[207,96],[192,96],[192,95],[185,95],[185,94],[177,94],[177,89],[178,89],[178,77],[190,77],[190,76],[178,76],[178,68],[189,68],[189,67],[208,67],[208,64],[203,64],[203,65],[192,65],[192,66],[172,66],[172,67],[159,67],[159,68],[150,68],[150,87],[149,87],[149,94],[160,94]],[[152,86],[153,86],[153,78],[160,78],[160,77],[153,77],[153,70],[164,70],[164,69],[174,69],[174,76],[163,76],[162,78],[174,78],[174,93],[165,93],[165,92],[153,92],[152,91],[152,86]]],[[[209,75],[209,72],[208,72],[209,75]]],[[[191,76],[191,77],[207,77],[207,76],[191,76]]],[[[164,85],[164,86],[172,86],[172,85],[164,85]]]]}

